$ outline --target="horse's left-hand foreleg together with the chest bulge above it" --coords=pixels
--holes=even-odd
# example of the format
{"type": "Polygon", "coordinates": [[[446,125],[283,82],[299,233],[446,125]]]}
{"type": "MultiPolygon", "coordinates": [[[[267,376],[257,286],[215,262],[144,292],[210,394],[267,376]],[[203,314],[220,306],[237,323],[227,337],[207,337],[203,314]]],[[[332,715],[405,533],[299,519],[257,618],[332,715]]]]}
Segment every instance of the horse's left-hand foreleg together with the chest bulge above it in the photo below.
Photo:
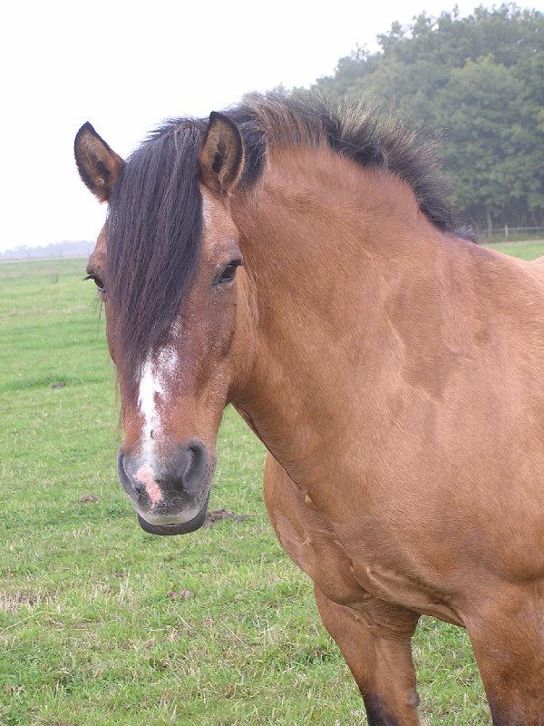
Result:
{"type": "Polygon", "coordinates": [[[355,676],[370,726],[419,726],[410,648],[417,614],[363,589],[325,517],[272,456],[265,503],[280,543],[314,581],[319,613],[355,676]]]}

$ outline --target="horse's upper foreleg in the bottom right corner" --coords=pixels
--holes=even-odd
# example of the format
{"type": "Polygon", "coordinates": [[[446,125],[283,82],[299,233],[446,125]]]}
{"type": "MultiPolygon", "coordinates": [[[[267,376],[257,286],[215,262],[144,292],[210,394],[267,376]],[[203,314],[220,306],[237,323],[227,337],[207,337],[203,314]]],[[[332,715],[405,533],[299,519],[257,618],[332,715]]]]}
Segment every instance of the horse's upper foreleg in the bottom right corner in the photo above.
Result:
{"type": "Polygon", "coordinates": [[[464,620],[493,726],[544,726],[544,584],[490,584],[464,620]]]}

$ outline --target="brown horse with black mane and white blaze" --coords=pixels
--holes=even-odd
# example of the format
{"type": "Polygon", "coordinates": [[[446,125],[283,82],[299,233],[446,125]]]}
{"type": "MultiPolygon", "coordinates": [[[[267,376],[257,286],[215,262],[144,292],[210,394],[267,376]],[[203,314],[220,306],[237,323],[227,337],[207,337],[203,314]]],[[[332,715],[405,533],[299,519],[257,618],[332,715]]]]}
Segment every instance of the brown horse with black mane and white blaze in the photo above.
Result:
{"type": "Polygon", "coordinates": [[[127,162],[89,260],[121,388],[121,485],[159,535],[204,519],[232,403],[279,541],[373,726],[420,723],[421,613],[467,628],[497,726],[544,724],[544,275],[456,233],[409,132],[250,97],[127,162]]]}

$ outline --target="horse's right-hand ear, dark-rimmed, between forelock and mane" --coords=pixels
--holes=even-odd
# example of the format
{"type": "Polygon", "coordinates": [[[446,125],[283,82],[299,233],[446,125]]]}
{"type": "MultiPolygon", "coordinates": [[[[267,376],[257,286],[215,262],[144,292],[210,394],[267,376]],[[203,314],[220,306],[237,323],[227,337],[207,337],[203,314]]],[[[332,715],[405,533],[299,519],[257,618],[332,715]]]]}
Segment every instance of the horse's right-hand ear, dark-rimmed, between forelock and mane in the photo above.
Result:
{"type": "Polygon", "coordinates": [[[202,182],[211,191],[232,191],[244,167],[244,145],[236,123],[223,113],[212,111],[199,151],[202,182]]]}

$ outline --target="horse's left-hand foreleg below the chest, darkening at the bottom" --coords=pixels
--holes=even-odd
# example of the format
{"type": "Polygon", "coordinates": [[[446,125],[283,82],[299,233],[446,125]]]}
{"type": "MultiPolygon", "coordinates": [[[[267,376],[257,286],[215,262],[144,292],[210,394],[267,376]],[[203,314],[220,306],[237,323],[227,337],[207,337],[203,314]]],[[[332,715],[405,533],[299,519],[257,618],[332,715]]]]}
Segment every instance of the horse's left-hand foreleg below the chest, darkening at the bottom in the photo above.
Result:
{"type": "MultiPolygon", "coordinates": [[[[317,586],[315,591],[325,628],[359,686],[369,726],[420,726],[412,633],[395,633],[393,638],[376,633],[357,610],[334,603],[317,586]]],[[[369,605],[372,603],[366,603],[365,609],[369,605]]],[[[405,612],[399,617],[406,622],[405,612]]],[[[413,616],[413,627],[416,622],[413,616]]]]}

